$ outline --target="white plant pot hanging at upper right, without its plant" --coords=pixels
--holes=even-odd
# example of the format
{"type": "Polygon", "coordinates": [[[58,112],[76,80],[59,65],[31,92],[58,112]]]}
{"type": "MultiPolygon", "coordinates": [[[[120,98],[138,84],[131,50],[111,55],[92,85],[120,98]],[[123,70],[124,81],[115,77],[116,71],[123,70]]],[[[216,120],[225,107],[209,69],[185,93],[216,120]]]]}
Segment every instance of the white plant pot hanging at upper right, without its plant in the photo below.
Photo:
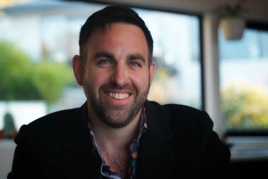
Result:
{"type": "Polygon", "coordinates": [[[219,21],[227,40],[239,40],[243,36],[245,20],[240,17],[222,17],[219,21]]]}

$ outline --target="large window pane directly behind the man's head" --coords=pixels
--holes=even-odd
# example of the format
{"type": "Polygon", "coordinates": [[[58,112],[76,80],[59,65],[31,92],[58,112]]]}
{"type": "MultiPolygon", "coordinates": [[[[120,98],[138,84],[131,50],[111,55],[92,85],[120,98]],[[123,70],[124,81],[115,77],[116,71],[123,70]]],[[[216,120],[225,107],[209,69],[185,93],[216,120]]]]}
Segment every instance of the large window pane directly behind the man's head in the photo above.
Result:
{"type": "MultiPolygon", "coordinates": [[[[0,56],[0,120],[11,112],[18,130],[38,117],[85,102],[71,62],[79,54],[81,26],[103,7],[98,3],[40,0],[2,9],[0,45],[5,48],[0,53],[5,56],[0,56]]],[[[156,72],[148,99],[201,108],[199,19],[135,10],[146,21],[155,45],[156,72]]]]}

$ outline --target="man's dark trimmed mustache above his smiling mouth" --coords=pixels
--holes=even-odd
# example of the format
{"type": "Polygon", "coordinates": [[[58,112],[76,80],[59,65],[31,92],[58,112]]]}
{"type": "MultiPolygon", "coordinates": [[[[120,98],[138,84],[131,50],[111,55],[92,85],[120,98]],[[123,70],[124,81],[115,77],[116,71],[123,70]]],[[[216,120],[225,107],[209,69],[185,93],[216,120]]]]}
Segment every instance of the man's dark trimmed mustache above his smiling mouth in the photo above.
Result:
{"type": "Polygon", "coordinates": [[[129,83],[123,84],[122,86],[118,86],[115,82],[111,82],[109,84],[104,84],[99,88],[99,91],[112,91],[112,90],[118,90],[118,91],[127,90],[130,92],[138,91],[136,87],[134,87],[129,83]]]}

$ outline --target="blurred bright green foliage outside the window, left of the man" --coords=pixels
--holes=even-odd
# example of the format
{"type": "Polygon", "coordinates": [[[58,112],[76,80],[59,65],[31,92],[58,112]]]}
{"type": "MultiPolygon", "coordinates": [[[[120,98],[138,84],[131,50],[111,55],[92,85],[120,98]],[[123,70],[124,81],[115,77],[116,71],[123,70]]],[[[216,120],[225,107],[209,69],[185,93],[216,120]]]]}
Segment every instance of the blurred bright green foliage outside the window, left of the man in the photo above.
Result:
{"type": "Polygon", "coordinates": [[[0,100],[57,100],[74,80],[71,66],[30,57],[13,44],[0,41],[0,100]]]}

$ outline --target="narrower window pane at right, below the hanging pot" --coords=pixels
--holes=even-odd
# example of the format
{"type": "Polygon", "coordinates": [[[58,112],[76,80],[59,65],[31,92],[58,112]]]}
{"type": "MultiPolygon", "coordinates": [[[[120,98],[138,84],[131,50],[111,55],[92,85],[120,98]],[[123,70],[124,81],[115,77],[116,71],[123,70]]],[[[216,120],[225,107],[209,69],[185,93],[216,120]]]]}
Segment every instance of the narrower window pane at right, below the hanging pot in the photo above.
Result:
{"type": "Polygon", "coordinates": [[[268,31],[246,29],[241,40],[219,29],[220,92],[227,132],[268,132],[268,31]]]}

